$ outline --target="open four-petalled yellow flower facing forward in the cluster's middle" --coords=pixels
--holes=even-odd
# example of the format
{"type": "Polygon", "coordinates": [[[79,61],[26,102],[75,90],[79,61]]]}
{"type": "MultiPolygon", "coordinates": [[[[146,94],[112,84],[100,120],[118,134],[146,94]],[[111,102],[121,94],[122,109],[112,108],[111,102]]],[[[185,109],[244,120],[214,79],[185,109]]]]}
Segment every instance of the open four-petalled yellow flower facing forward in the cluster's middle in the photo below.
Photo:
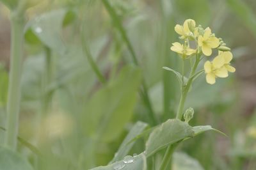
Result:
{"type": "Polygon", "coordinates": [[[220,40],[215,36],[212,36],[211,29],[207,27],[204,31],[204,36],[198,37],[198,45],[202,47],[202,52],[205,56],[211,56],[212,49],[220,45],[220,40]]]}

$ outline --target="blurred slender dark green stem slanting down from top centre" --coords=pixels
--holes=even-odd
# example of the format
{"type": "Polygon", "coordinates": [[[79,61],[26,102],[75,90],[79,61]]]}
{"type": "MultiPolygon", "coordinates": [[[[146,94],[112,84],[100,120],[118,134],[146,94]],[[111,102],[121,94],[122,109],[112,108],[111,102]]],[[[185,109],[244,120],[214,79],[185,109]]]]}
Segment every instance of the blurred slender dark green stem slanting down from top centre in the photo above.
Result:
{"type": "MultiPolygon", "coordinates": [[[[118,19],[118,15],[116,14],[115,9],[111,6],[111,4],[109,4],[108,0],[102,0],[102,3],[104,4],[104,7],[106,8],[106,10],[108,11],[109,15],[111,16],[113,23],[115,24],[116,28],[118,29],[118,31],[120,32],[120,35],[122,36],[122,39],[124,40],[124,42],[127,45],[127,48],[129,50],[129,52],[131,53],[132,56],[132,62],[134,63],[134,65],[138,66],[138,58],[134,52],[134,49],[132,48],[132,44],[127,36],[127,33],[125,32],[124,27],[122,26],[122,23],[120,22],[120,20],[118,19]]],[[[150,98],[148,96],[148,90],[147,90],[147,84],[145,82],[145,80],[142,81],[142,91],[140,92],[141,97],[143,98],[143,102],[146,105],[146,107],[148,108],[148,116],[150,117],[150,120],[152,121],[152,125],[157,125],[157,118],[156,118],[156,114],[154,114],[154,110],[150,101],[150,98]]]]}

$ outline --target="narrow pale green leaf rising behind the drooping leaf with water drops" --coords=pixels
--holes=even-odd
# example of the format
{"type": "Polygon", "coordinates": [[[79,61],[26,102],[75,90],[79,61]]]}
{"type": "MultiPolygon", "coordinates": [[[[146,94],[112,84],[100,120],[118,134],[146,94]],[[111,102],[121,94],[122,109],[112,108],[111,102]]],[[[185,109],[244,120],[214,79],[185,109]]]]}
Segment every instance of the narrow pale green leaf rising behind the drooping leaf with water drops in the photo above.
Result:
{"type": "Polygon", "coordinates": [[[130,130],[129,134],[125,137],[124,141],[122,142],[121,146],[119,147],[118,151],[115,153],[115,157],[111,160],[111,163],[116,162],[118,160],[122,160],[131,150],[132,146],[134,145],[135,141],[130,141],[134,139],[137,135],[140,135],[141,132],[147,127],[147,123],[143,123],[138,121],[130,130]]]}

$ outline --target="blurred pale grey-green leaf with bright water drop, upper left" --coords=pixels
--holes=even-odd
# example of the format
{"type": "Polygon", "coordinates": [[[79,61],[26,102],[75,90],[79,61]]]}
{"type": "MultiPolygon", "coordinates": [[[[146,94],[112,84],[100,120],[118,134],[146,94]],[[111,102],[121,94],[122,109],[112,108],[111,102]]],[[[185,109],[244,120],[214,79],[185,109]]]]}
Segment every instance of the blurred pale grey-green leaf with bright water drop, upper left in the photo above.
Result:
{"type": "Polygon", "coordinates": [[[67,10],[54,10],[28,22],[25,33],[27,42],[38,43],[40,40],[59,54],[65,54],[67,48],[61,38],[61,32],[67,12],[67,10]]]}

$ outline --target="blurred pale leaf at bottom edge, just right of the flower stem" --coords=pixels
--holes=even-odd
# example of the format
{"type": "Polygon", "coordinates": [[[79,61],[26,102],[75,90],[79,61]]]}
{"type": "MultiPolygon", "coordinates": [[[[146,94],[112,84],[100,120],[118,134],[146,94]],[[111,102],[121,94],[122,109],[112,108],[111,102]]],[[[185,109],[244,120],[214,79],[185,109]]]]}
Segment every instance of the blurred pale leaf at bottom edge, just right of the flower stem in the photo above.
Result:
{"type": "Polygon", "coordinates": [[[173,170],[204,170],[198,160],[186,153],[176,152],[173,154],[173,170]]]}

